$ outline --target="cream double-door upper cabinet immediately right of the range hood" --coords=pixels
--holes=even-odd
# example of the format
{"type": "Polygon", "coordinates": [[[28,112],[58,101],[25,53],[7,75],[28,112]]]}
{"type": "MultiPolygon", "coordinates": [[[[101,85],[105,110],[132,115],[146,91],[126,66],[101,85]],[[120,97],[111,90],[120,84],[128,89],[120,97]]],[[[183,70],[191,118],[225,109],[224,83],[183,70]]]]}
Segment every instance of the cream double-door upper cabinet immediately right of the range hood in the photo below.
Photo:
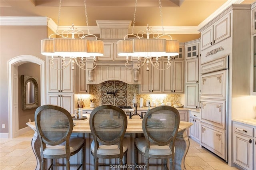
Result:
{"type": "MultiPolygon", "coordinates": [[[[156,63],[153,61],[153,63],[156,63]]],[[[162,68],[162,61],[158,61],[159,68],[162,68]]],[[[141,73],[141,85],[140,93],[161,93],[162,92],[162,71],[156,69],[151,64],[148,65],[149,70],[147,71],[147,64],[140,69],[141,73]]],[[[170,70],[170,69],[168,69],[170,70]]]]}

